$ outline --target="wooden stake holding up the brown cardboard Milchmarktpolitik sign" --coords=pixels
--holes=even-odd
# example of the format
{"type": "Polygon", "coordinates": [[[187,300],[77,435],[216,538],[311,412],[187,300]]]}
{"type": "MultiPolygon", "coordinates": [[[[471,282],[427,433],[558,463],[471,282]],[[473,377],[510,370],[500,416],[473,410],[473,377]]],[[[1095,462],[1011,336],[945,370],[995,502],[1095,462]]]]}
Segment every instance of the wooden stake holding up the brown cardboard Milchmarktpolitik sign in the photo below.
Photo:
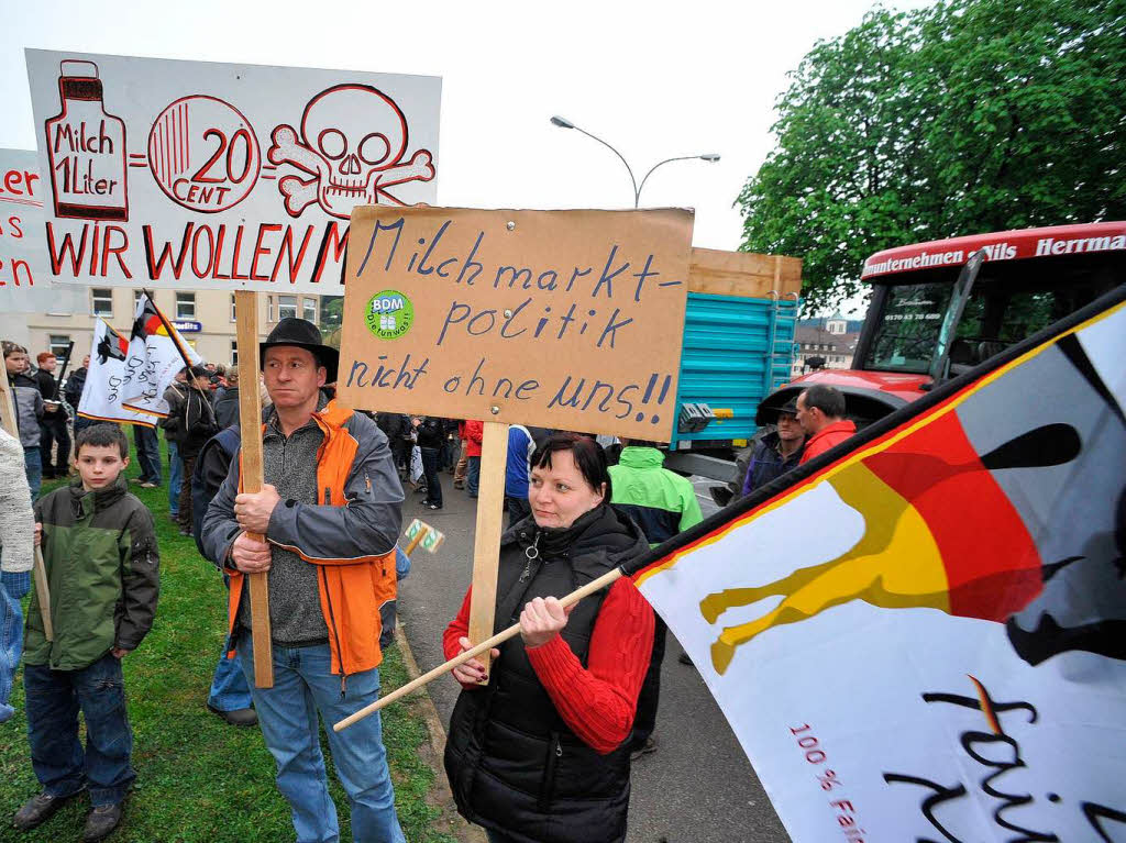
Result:
{"type": "MultiPolygon", "coordinates": [[[[473,591],[470,594],[470,640],[492,634],[497,609],[497,572],[504,519],[504,469],[508,465],[508,424],[485,422],[477,473],[477,524],[473,535],[473,591]]],[[[489,671],[489,651],[481,657],[489,671]]]]}

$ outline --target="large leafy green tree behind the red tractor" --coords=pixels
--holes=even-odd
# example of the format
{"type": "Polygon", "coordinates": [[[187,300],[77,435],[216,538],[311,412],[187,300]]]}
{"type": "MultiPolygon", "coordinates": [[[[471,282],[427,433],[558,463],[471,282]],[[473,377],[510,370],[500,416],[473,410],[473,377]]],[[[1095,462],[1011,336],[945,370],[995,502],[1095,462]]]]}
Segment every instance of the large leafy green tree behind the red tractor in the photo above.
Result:
{"type": "Polygon", "coordinates": [[[790,80],[738,201],[742,249],[804,258],[807,312],[881,249],[1126,218],[1126,0],[876,8],[790,80]]]}

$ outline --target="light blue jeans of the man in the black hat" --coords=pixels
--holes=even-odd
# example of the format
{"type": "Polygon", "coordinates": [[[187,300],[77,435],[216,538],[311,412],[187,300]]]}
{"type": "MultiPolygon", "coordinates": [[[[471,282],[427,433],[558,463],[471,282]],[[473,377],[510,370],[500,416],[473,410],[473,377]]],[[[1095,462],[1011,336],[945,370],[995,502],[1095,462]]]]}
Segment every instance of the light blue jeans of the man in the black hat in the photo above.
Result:
{"type": "Polygon", "coordinates": [[[383,746],[379,715],[366,717],[343,732],[332,724],[379,696],[379,671],[341,678],[330,672],[329,645],[274,645],[274,688],[254,688],[254,655],[250,635],[239,637],[242,670],[254,699],[266,748],[277,765],[277,786],[289,801],[297,843],[336,843],[340,838],[337,808],[329,796],[328,773],[318,734],[318,714],[324,721],[329,750],[351,806],[356,843],[405,843],[395,814],[395,793],[383,746]]]}

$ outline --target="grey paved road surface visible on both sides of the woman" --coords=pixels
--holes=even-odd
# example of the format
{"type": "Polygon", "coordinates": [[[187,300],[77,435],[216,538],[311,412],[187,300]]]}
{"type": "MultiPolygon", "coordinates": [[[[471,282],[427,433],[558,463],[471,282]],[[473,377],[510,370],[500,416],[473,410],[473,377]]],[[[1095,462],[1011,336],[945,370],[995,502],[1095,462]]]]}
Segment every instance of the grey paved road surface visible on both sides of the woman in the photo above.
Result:
{"type": "MultiPolygon", "coordinates": [[[[446,533],[438,553],[418,553],[401,584],[400,611],[423,670],[440,664],[441,630],[457,613],[472,579],[475,509],[443,473],[445,509],[431,512],[408,493],[404,524],[418,517],[446,533]]],[[[697,481],[697,478],[694,478],[697,481]]],[[[705,515],[715,511],[709,481],[696,487],[705,515]]],[[[664,660],[656,738],[660,748],[634,764],[627,843],[786,843],[778,817],[727,721],[692,667],[680,664],[671,638],[664,660]]],[[[444,678],[430,694],[449,724],[458,687],[444,678]]]]}

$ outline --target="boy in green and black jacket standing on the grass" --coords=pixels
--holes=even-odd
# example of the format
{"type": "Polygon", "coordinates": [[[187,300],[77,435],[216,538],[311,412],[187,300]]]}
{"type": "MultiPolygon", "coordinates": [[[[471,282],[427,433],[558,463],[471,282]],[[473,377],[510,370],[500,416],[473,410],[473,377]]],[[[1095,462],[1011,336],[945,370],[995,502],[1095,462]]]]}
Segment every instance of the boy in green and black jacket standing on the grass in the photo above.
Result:
{"type": "Polygon", "coordinates": [[[102,840],[120,822],[136,778],[120,660],[152,627],[160,556],[152,515],[129,494],[123,475],[128,452],[116,424],[86,428],[75,442],[79,479],[35,504],[35,542],[46,563],[54,636],[44,635],[33,595],[24,690],[32,768],[43,792],[16,813],[12,822],[21,831],[89,789],[93,809],[82,840],[102,840]]]}

